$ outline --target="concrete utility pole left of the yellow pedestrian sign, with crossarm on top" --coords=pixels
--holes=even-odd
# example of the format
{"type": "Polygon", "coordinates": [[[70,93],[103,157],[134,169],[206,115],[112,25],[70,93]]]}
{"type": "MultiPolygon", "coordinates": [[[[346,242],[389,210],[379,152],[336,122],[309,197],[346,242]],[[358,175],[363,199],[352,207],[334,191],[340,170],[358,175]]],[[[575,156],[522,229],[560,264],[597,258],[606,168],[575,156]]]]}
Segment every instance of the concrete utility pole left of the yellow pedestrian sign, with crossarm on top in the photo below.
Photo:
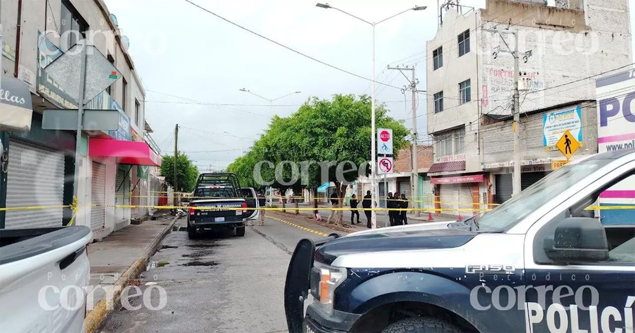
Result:
{"type": "Polygon", "coordinates": [[[494,59],[497,58],[498,53],[511,53],[514,57],[514,123],[512,124],[512,131],[514,133],[514,181],[513,181],[513,195],[517,195],[521,192],[521,152],[520,152],[520,91],[518,89],[518,79],[520,75],[519,58],[522,55],[525,59],[525,63],[531,56],[531,50],[519,53],[518,51],[518,34],[511,30],[496,30],[496,29],[483,29],[486,32],[497,33],[502,39],[507,49],[496,49],[493,53],[494,59]],[[509,34],[514,36],[514,51],[509,48],[509,45],[503,38],[502,34],[509,34]]]}

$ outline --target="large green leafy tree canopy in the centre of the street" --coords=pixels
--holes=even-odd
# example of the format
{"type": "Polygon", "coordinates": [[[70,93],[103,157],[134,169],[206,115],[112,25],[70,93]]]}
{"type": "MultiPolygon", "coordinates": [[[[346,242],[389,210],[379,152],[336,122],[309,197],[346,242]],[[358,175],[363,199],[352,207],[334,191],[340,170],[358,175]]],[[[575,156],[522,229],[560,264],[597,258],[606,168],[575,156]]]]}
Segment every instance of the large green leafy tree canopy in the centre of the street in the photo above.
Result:
{"type": "MultiPolygon", "coordinates": [[[[394,151],[399,152],[406,145],[409,131],[403,121],[389,117],[388,113],[385,105],[376,106],[376,127],[392,129],[394,151]]],[[[362,166],[364,175],[370,171],[367,167],[370,136],[370,97],[335,95],[331,100],[313,97],[288,117],[274,116],[250,151],[227,169],[238,174],[241,184],[262,188],[264,184],[258,183],[258,175],[254,174],[260,162],[262,180],[272,182],[271,186],[281,191],[293,188],[298,193],[304,187],[316,189],[322,183],[333,181],[338,197],[344,197],[345,186],[342,185],[358,178],[359,167],[362,166]],[[261,161],[270,161],[274,168],[261,161]],[[343,163],[346,161],[350,164],[343,163]],[[298,174],[297,180],[294,174],[298,174]]],[[[338,221],[341,215],[340,211],[338,221]]]]}

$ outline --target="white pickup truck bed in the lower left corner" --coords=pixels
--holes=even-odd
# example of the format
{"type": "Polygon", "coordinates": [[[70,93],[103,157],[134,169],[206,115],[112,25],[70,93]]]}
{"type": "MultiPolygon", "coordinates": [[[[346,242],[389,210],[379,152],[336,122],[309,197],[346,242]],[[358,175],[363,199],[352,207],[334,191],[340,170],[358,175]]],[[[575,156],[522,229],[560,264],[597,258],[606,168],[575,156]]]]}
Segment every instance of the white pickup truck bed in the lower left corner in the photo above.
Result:
{"type": "Polygon", "coordinates": [[[0,230],[0,332],[84,332],[88,226],[0,230]]]}

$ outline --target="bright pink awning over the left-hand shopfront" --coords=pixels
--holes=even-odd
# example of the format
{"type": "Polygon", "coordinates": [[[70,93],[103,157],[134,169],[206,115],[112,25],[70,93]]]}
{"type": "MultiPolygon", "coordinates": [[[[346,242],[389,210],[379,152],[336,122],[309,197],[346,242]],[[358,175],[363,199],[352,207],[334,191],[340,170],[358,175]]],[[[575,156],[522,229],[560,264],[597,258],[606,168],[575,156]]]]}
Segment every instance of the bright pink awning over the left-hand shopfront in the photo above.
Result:
{"type": "Polygon", "coordinates": [[[117,164],[161,166],[161,156],[145,142],[90,138],[88,155],[116,157],[117,164]]]}

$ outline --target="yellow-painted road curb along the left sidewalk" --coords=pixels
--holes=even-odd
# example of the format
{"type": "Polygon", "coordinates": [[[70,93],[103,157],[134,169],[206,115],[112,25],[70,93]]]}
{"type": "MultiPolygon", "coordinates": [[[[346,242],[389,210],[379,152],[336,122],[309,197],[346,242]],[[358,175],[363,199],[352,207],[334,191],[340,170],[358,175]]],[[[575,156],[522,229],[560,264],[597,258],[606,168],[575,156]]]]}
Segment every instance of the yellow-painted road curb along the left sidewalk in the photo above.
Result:
{"type": "Polygon", "coordinates": [[[163,231],[159,233],[156,238],[154,238],[152,243],[148,245],[147,249],[145,249],[144,251],[144,254],[137,258],[137,260],[133,264],[131,264],[128,270],[124,271],[121,277],[117,279],[113,286],[114,292],[112,294],[112,304],[108,304],[109,302],[107,301],[107,299],[102,299],[97,303],[97,305],[95,305],[95,308],[93,308],[93,310],[86,314],[86,318],[84,318],[84,332],[95,332],[102,321],[104,321],[104,319],[108,317],[108,315],[114,308],[113,305],[119,303],[119,300],[121,299],[121,291],[123,291],[125,287],[128,287],[128,284],[130,284],[131,280],[137,278],[140,273],[145,271],[150,257],[152,257],[154,253],[156,253],[157,249],[159,249],[161,242],[163,242],[163,238],[165,238],[166,235],[168,235],[168,233],[172,231],[172,227],[177,222],[177,219],[178,216],[173,218],[170,224],[168,224],[163,229],[163,231]]]}

